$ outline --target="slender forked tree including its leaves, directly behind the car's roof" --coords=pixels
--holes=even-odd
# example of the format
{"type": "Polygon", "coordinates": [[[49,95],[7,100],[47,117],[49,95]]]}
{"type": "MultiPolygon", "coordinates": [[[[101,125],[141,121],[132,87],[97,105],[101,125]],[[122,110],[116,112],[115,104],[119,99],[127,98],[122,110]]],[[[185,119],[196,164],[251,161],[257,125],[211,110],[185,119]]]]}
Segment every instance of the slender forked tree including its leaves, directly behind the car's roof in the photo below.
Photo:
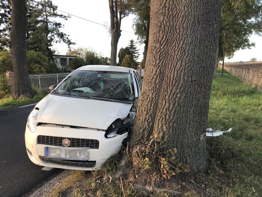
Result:
{"type": "Polygon", "coordinates": [[[111,30],[110,65],[113,66],[117,65],[117,44],[121,36],[121,21],[122,18],[129,15],[130,7],[129,1],[127,0],[109,0],[111,30]]]}

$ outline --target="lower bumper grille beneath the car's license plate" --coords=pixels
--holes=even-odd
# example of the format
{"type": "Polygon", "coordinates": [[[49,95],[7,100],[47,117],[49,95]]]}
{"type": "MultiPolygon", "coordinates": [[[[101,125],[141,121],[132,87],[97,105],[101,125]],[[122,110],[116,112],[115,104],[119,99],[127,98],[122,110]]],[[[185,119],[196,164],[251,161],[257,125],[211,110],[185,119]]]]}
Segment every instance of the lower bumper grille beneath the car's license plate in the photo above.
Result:
{"type": "Polygon", "coordinates": [[[50,160],[43,156],[39,156],[42,162],[51,163],[62,166],[80,167],[80,168],[92,168],[96,165],[96,161],[73,161],[73,160],[50,160]]]}

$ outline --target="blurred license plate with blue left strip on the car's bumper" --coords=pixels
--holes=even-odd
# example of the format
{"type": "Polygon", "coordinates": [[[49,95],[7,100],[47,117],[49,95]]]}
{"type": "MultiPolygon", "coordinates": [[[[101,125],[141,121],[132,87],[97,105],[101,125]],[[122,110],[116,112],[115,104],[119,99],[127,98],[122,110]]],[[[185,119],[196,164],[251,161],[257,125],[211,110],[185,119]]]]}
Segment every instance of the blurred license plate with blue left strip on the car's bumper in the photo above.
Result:
{"type": "Polygon", "coordinates": [[[45,158],[52,160],[89,160],[89,148],[45,147],[45,158]]]}

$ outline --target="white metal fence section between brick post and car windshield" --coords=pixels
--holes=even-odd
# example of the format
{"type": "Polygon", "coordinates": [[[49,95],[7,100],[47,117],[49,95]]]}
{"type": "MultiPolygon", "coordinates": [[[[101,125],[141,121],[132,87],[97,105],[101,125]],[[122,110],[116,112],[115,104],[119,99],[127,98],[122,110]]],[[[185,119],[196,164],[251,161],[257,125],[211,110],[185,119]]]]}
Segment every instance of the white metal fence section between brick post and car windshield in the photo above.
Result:
{"type": "Polygon", "coordinates": [[[59,84],[70,72],[29,75],[33,88],[48,89],[51,85],[59,84]]]}

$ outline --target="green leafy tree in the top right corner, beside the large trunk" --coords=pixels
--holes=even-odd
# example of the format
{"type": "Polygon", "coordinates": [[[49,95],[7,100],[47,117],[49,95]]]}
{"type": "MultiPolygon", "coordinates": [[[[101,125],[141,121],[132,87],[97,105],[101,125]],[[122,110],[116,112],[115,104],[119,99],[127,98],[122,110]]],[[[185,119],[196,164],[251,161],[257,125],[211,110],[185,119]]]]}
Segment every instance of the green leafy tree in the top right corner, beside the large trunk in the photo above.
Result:
{"type": "Polygon", "coordinates": [[[224,33],[226,36],[225,56],[232,58],[239,49],[250,48],[249,37],[253,33],[262,33],[261,0],[223,0],[218,59],[223,56],[224,33]]]}

